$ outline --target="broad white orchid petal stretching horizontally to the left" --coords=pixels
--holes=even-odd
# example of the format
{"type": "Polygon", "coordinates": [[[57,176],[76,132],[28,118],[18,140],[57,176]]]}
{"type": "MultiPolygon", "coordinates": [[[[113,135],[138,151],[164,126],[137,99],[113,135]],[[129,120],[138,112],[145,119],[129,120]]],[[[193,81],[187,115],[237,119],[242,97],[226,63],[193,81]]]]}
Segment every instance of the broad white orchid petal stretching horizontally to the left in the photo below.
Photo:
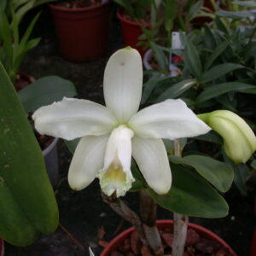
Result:
{"type": "Polygon", "coordinates": [[[41,134],[72,140],[88,135],[103,135],[117,124],[108,108],[86,100],[63,98],[39,108],[33,115],[41,134]]]}

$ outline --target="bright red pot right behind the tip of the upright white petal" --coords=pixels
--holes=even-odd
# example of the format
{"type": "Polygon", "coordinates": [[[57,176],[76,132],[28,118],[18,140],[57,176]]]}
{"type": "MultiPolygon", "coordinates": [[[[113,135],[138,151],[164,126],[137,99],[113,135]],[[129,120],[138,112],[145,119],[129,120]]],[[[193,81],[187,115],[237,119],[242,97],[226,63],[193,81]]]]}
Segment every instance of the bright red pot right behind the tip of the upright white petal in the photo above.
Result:
{"type": "Polygon", "coordinates": [[[141,46],[137,46],[137,43],[139,42],[138,38],[143,34],[141,26],[145,25],[132,20],[126,20],[122,16],[121,10],[117,11],[117,17],[122,27],[123,41],[125,46],[131,46],[132,48],[137,49],[138,52],[143,56],[146,49],[143,49],[141,46]]]}

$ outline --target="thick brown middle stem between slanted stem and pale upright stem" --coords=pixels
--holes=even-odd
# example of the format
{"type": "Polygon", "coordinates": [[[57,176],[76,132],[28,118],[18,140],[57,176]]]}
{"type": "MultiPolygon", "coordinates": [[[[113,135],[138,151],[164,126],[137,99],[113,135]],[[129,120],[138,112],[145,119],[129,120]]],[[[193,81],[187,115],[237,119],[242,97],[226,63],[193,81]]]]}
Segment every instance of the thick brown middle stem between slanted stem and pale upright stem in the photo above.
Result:
{"type": "Polygon", "coordinates": [[[155,223],[156,209],[157,205],[148,195],[148,192],[145,189],[140,190],[140,213],[143,221],[144,234],[154,255],[163,256],[164,247],[155,223]]]}

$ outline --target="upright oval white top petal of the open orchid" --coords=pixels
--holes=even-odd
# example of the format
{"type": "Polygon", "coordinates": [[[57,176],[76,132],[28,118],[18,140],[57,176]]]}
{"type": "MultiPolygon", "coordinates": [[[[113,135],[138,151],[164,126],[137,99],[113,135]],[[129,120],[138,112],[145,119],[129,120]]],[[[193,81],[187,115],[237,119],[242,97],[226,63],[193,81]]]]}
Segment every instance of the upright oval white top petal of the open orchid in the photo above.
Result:
{"type": "Polygon", "coordinates": [[[104,73],[104,97],[119,123],[137,113],[143,90],[143,64],[136,49],[119,49],[109,59],[104,73]]]}

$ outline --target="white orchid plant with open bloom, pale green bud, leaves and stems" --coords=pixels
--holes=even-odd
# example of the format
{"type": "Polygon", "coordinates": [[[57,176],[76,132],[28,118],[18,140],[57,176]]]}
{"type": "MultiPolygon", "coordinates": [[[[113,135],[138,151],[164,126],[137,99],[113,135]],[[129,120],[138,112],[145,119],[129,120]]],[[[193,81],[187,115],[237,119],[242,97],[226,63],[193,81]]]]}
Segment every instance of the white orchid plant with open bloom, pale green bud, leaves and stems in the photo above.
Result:
{"type": "Polygon", "coordinates": [[[212,127],[224,137],[228,146],[224,150],[236,162],[250,158],[256,137],[235,113],[220,110],[197,117],[182,100],[137,112],[143,67],[141,56],[130,47],[110,57],[103,88],[107,107],[66,98],[38,108],[32,115],[35,127],[41,134],[67,140],[81,137],[68,172],[71,188],[84,189],[98,177],[103,200],[131,222],[151,253],[164,254],[155,223],[156,204],[175,212],[172,255],[183,255],[188,215],[224,217],[228,206],[216,189],[225,192],[233,181],[233,171],[223,161],[201,152],[186,155],[184,137],[206,134],[212,127]],[[229,119],[226,124],[223,115],[229,119]],[[227,127],[236,133],[235,140],[227,127]],[[166,139],[166,146],[160,138],[166,139]],[[120,199],[128,190],[140,194],[140,217],[120,199]]]}

